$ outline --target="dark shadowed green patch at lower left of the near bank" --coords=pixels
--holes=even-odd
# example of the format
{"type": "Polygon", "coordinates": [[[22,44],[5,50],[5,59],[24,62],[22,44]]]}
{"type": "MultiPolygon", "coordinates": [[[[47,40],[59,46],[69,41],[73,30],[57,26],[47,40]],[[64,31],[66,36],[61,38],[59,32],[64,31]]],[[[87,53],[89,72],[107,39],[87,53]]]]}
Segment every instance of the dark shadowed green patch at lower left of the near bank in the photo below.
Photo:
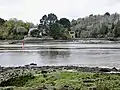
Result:
{"type": "Polygon", "coordinates": [[[22,87],[25,85],[28,80],[34,79],[35,77],[33,75],[25,75],[25,76],[20,76],[16,78],[11,78],[7,81],[3,81],[0,83],[0,87],[5,87],[5,86],[17,86],[17,87],[22,87]]]}

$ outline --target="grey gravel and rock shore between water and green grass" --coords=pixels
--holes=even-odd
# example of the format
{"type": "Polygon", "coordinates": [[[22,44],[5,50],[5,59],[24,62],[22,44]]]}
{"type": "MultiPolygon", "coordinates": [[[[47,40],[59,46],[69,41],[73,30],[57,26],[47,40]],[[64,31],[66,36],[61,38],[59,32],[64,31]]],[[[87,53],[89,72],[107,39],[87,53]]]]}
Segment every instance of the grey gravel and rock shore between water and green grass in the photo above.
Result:
{"type": "Polygon", "coordinates": [[[99,67],[79,67],[79,66],[34,66],[26,65],[20,67],[0,67],[0,83],[10,78],[19,77],[31,73],[33,75],[41,72],[55,72],[55,71],[80,71],[80,72],[94,72],[94,73],[119,73],[120,70],[113,67],[99,68],[99,67]]]}

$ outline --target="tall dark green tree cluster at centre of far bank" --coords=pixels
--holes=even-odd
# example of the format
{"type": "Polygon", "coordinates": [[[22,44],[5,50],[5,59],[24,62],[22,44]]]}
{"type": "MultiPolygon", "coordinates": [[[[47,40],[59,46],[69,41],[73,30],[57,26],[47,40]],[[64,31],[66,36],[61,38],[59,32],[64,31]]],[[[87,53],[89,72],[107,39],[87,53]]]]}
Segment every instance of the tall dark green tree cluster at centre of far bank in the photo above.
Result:
{"type": "Polygon", "coordinates": [[[62,18],[59,21],[53,13],[44,15],[38,25],[38,29],[46,33],[43,33],[43,36],[47,35],[54,39],[65,39],[65,28],[70,28],[70,21],[66,18],[62,18]]]}

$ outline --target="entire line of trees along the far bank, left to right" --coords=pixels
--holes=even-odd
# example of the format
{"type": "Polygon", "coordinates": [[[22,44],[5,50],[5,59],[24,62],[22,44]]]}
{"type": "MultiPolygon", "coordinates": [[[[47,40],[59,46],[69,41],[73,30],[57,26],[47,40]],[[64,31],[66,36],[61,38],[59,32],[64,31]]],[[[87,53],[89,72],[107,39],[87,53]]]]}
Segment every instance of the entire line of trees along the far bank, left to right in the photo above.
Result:
{"type": "Polygon", "coordinates": [[[120,37],[120,15],[106,12],[104,15],[89,15],[70,22],[67,18],[58,19],[57,15],[50,13],[43,15],[38,25],[23,22],[16,18],[4,20],[0,18],[0,39],[23,39],[28,35],[30,28],[38,28],[32,32],[33,36],[53,37],[54,39],[69,39],[69,31],[75,32],[76,38],[118,38],[120,37]]]}

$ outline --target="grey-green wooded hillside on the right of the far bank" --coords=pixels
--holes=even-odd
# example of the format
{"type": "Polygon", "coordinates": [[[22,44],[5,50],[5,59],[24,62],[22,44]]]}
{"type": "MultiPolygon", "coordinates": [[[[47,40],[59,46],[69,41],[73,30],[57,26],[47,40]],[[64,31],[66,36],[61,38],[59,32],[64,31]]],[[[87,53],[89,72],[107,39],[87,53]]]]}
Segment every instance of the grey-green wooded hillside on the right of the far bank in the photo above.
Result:
{"type": "Polygon", "coordinates": [[[104,15],[89,15],[71,21],[71,29],[78,38],[120,37],[120,15],[106,12],[104,15]]]}

